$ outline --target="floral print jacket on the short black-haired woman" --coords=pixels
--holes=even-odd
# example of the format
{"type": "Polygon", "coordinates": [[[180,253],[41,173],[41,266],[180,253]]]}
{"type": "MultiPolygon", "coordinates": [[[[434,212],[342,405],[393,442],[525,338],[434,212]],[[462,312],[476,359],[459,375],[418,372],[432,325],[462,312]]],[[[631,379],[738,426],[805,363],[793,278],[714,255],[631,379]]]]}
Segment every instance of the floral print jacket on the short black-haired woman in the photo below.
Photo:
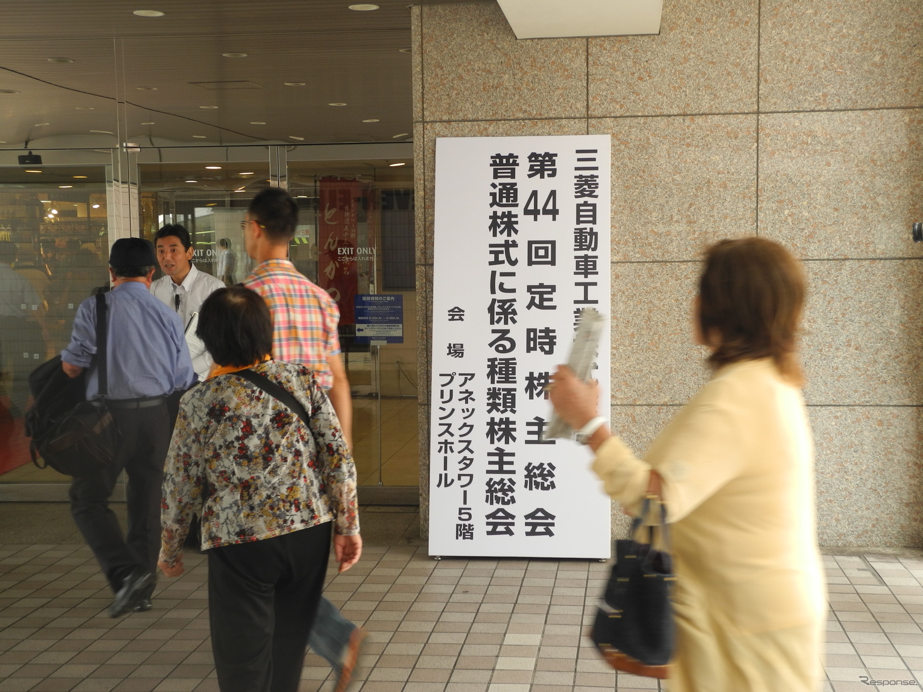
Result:
{"type": "Polygon", "coordinates": [[[267,361],[253,370],[294,395],[310,429],[282,402],[234,373],[184,395],[163,471],[161,559],[173,561],[194,514],[202,549],[248,543],[335,521],[359,532],[355,466],[314,373],[267,361]]]}

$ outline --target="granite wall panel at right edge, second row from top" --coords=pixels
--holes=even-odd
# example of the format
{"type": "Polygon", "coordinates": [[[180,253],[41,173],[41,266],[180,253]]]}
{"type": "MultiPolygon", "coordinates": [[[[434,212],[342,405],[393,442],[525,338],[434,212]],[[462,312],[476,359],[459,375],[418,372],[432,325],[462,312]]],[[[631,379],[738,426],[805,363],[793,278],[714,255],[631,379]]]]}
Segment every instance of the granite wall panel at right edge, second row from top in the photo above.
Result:
{"type": "Polygon", "coordinates": [[[920,257],[923,113],[760,118],[760,234],[798,257],[920,257]]]}

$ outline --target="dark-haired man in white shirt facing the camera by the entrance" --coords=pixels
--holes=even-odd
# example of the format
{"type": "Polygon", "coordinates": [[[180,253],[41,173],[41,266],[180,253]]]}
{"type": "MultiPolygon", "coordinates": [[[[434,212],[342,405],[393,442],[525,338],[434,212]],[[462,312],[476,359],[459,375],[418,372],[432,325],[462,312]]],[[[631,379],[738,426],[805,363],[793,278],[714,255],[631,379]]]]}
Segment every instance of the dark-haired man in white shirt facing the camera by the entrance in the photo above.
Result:
{"type": "MultiPolygon", "coordinates": [[[[196,327],[189,324],[193,315],[198,313],[198,308],[212,292],[224,288],[224,283],[192,264],[195,250],[189,232],[179,224],[167,225],[158,231],[154,235],[154,249],[165,276],[150,284],[150,292],[176,311],[183,320],[188,337],[194,334],[196,327]]],[[[207,351],[195,352],[194,344],[190,345],[189,351],[192,367],[201,382],[209,375],[211,356],[207,351]]]]}

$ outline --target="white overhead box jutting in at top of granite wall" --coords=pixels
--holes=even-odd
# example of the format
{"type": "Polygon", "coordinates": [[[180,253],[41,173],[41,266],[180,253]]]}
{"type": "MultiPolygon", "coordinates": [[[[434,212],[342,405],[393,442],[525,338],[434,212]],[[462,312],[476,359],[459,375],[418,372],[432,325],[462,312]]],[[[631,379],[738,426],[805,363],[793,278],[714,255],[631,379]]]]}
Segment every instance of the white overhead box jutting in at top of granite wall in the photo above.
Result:
{"type": "Polygon", "coordinates": [[[663,0],[497,0],[517,39],[660,33],[663,0]]]}

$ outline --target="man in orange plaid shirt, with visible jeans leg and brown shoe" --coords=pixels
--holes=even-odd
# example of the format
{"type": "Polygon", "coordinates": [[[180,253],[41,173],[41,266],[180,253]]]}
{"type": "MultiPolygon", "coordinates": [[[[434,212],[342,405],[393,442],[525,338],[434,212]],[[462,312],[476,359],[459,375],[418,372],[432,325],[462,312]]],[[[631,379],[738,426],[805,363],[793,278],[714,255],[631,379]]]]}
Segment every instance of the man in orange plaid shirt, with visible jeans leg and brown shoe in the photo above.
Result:
{"type": "MultiPolygon", "coordinates": [[[[340,358],[340,309],[330,293],[301,274],[289,261],[289,244],[298,225],[298,205],[280,187],[258,193],[241,223],[246,253],[257,263],[244,285],[270,305],[272,313],[272,357],[283,363],[308,365],[318,374],[318,383],[330,397],[340,419],[346,444],[353,447],[353,398],[346,368],[340,358]]],[[[359,536],[335,536],[337,542],[354,541],[361,555],[359,536]]],[[[326,598],[318,604],[308,645],[330,662],[337,673],[333,692],[343,692],[353,675],[359,647],[366,630],[345,619],[326,598]]]]}

